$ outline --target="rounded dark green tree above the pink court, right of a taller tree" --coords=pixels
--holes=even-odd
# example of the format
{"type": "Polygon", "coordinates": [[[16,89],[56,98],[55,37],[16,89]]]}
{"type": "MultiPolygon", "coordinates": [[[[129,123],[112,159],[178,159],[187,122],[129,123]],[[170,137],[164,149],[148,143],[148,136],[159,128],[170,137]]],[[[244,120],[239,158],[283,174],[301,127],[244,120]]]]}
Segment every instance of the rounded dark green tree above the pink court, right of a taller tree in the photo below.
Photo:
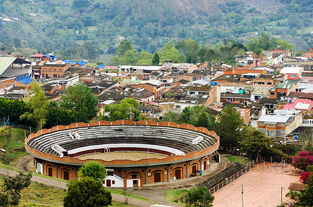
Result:
{"type": "Polygon", "coordinates": [[[265,134],[256,128],[249,128],[243,137],[243,141],[239,142],[241,150],[247,155],[256,156],[257,159],[271,144],[271,139],[265,137],[265,134]]]}

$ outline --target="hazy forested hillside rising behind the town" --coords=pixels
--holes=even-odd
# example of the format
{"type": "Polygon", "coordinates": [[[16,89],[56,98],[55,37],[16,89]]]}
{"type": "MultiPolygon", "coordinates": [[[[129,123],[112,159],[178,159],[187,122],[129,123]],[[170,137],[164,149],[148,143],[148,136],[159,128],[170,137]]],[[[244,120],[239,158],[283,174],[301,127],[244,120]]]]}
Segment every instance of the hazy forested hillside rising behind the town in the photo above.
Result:
{"type": "Polygon", "coordinates": [[[155,52],[169,40],[245,43],[265,32],[305,49],[313,46],[312,13],[312,0],[0,0],[0,17],[11,20],[0,25],[0,46],[17,37],[70,57],[86,41],[112,53],[125,37],[155,52]]]}

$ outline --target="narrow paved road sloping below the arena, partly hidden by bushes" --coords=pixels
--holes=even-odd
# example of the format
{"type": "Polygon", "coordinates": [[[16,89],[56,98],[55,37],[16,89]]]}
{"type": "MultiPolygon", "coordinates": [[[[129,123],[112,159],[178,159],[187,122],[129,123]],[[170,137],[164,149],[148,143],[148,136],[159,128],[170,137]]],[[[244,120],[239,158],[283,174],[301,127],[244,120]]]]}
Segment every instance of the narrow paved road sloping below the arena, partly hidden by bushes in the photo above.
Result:
{"type": "MultiPolygon", "coordinates": [[[[13,170],[7,170],[5,168],[0,168],[0,175],[2,175],[2,176],[15,176],[15,175],[17,175],[17,172],[13,171],[13,170]]],[[[65,182],[56,181],[53,179],[48,179],[46,177],[39,177],[39,176],[34,175],[34,174],[32,175],[32,181],[34,181],[34,182],[37,181],[38,183],[44,184],[46,186],[53,186],[59,190],[67,189],[65,182]]],[[[125,201],[125,198],[123,195],[112,194],[112,199],[113,199],[113,201],[115,201],[117,203],[123,203],[125,201]]],[[[147,206],[151,206],[153,204],[154,203],[151,203],[148,201],[143,201],[140,199],[135,199],[133,197],[131,197],[131,199],[129,201],[129,205],[138,206],[138,207],[147,207],[147,206]]]]}

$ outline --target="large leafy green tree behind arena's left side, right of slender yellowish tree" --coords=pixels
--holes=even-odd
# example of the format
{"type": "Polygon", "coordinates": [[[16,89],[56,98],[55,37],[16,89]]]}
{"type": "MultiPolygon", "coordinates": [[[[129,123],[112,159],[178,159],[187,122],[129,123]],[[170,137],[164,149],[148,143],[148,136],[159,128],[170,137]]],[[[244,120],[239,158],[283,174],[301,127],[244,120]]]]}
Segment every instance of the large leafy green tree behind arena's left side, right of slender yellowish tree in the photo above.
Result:
{"type": "Polygon", "coordinates": [[[97,115],[97,103],[93,90],[84,83],[77,83],[61,95],[60,106],[72,113],[74,121],[88,122],[97,115]]]}

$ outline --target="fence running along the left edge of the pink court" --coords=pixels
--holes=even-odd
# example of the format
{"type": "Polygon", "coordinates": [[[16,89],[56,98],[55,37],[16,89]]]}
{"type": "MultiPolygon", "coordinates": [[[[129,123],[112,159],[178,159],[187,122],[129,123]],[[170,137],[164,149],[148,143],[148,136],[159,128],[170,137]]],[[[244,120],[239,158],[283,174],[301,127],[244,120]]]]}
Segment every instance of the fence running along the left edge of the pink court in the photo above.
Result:
{"type": "Polygon", "coordinates": [[[228,184],[230,184],[232,181],[235,181],[236,179],[238,179],[239,177],[245,175],[245,173],[249,172],[249,170],[254,166],[258,164],[258,160],[252,160],[250,161],[245,168],[238,170],[237,172],[235,172],[233,175],[226,177],[223,181],[221,181],[219,184],[216,184],[215,186],[209,188],[209,193],[216,193],[216,191],[220,190],[221,188],[223,188],[224,186],[227,186],[228,184]]]}

